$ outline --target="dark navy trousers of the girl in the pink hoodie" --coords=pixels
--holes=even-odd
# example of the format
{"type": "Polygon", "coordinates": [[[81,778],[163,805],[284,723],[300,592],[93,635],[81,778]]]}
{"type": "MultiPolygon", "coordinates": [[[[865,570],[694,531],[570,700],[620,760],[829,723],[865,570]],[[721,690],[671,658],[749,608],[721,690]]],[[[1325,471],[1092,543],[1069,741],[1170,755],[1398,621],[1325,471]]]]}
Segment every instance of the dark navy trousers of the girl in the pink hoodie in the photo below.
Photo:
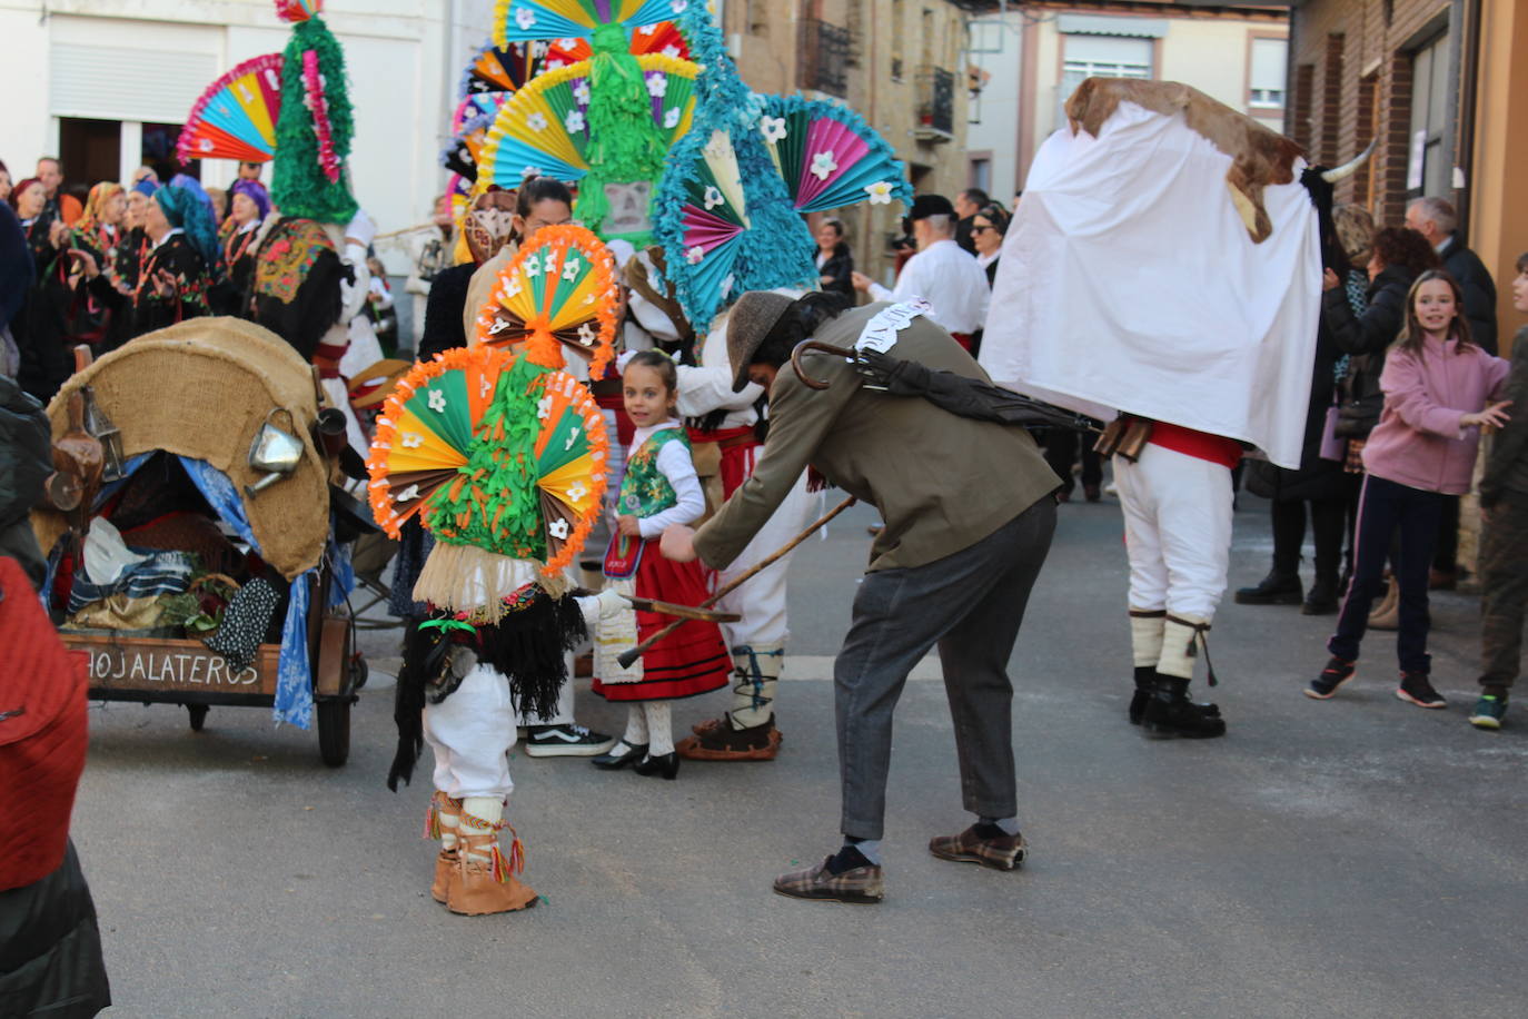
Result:
{"type": "Polygon", "coordinates": [[[1400,631],[1395,652],[1401,672],[1432,671],[1427,654],[1427,571],[1438,547],[1438,526],[1452,497],[1424,492],[1369,475],[1358,495],[1358,533],[1354,539],[1352,584],[1337,617],[1337,632],[1326,649],[1345,662],[1357,662],[1369,608],[1384,590],[1384,559],[1390,536],[1400,530],[1395,553],[1395,579],[1401,588],[1400,631]]]}

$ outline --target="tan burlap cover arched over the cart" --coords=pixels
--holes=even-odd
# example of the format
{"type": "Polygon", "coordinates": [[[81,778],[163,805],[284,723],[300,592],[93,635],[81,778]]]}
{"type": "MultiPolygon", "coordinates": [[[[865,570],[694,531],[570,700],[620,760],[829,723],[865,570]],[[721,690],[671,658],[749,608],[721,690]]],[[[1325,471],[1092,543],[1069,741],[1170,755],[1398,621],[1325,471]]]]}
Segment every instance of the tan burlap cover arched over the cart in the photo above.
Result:
{"type": "MultiPolygon", "coordinates": [[[[264,561],[289,581],[318,565],[329,536],[327,467],[310,426],[318,396],[310,365],[275,333],[237,318],[196,318],[139,336],[75,374],[47,417],[53,438],[69,428],[69,396],[81,385],[122,432],[127,457],[163,449],[205,460],[222,471],[244,501],[264,561]],[[272,408],[272,425],[295,428],[303,463],[254,498],[246,484],[264,472],[249,466],[249,445],[272,408]]],[[[43,548],[64,532],[64,518],[35,510],[32,529],[43,548]]]]}

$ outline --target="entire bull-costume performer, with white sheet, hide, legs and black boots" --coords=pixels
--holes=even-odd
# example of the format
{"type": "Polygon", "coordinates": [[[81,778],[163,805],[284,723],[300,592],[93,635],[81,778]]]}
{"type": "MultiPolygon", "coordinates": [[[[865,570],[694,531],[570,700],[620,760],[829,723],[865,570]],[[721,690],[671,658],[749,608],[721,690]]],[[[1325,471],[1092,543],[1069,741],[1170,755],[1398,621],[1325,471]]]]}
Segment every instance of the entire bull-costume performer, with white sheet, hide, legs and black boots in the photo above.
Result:
{"type": "Polygon", "coordinates": [[[1068,409],[1152,422],[1138,458],[1114,457],[1129,720],[1219,736],[1219,709],[1187,691],[1225,591],[1236,443],[1297,467],[1305,432],[1322,283],[1305,163],[1177,82],[1089,78],[1067,115],[1004,241],[981,365],[1068,409]]]}

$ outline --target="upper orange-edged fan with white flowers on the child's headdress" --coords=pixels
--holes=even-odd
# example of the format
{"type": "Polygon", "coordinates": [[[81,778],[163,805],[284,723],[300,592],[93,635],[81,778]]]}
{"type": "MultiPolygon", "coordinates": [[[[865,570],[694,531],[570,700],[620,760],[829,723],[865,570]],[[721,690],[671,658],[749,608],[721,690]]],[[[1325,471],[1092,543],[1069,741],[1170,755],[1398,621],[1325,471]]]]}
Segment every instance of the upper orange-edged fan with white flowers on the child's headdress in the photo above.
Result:
{"type": "Polygon", "coordinates": [[[472,342],[524,344],[526,357],[544,368],[561,368],[562,347],[573,347],[597,379],[613,354],[619,301],[610,249],[582,226],[545,226],[504,266],[472,342]]]}

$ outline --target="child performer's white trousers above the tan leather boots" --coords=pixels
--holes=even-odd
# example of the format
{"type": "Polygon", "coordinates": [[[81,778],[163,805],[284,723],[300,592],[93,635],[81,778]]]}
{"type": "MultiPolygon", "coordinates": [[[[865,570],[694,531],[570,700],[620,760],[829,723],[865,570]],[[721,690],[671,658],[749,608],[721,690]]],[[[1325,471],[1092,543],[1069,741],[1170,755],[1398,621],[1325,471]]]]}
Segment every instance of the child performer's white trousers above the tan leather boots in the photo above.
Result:
{"type": "Polygon", "coordinates": [[[509,796],[515,788],[507,761],[515,746],[509,680],[486,665],[474,668],[451,697],[425,706],[425,741],[435,752],[440,791],[452,799],[509,796]]]}

